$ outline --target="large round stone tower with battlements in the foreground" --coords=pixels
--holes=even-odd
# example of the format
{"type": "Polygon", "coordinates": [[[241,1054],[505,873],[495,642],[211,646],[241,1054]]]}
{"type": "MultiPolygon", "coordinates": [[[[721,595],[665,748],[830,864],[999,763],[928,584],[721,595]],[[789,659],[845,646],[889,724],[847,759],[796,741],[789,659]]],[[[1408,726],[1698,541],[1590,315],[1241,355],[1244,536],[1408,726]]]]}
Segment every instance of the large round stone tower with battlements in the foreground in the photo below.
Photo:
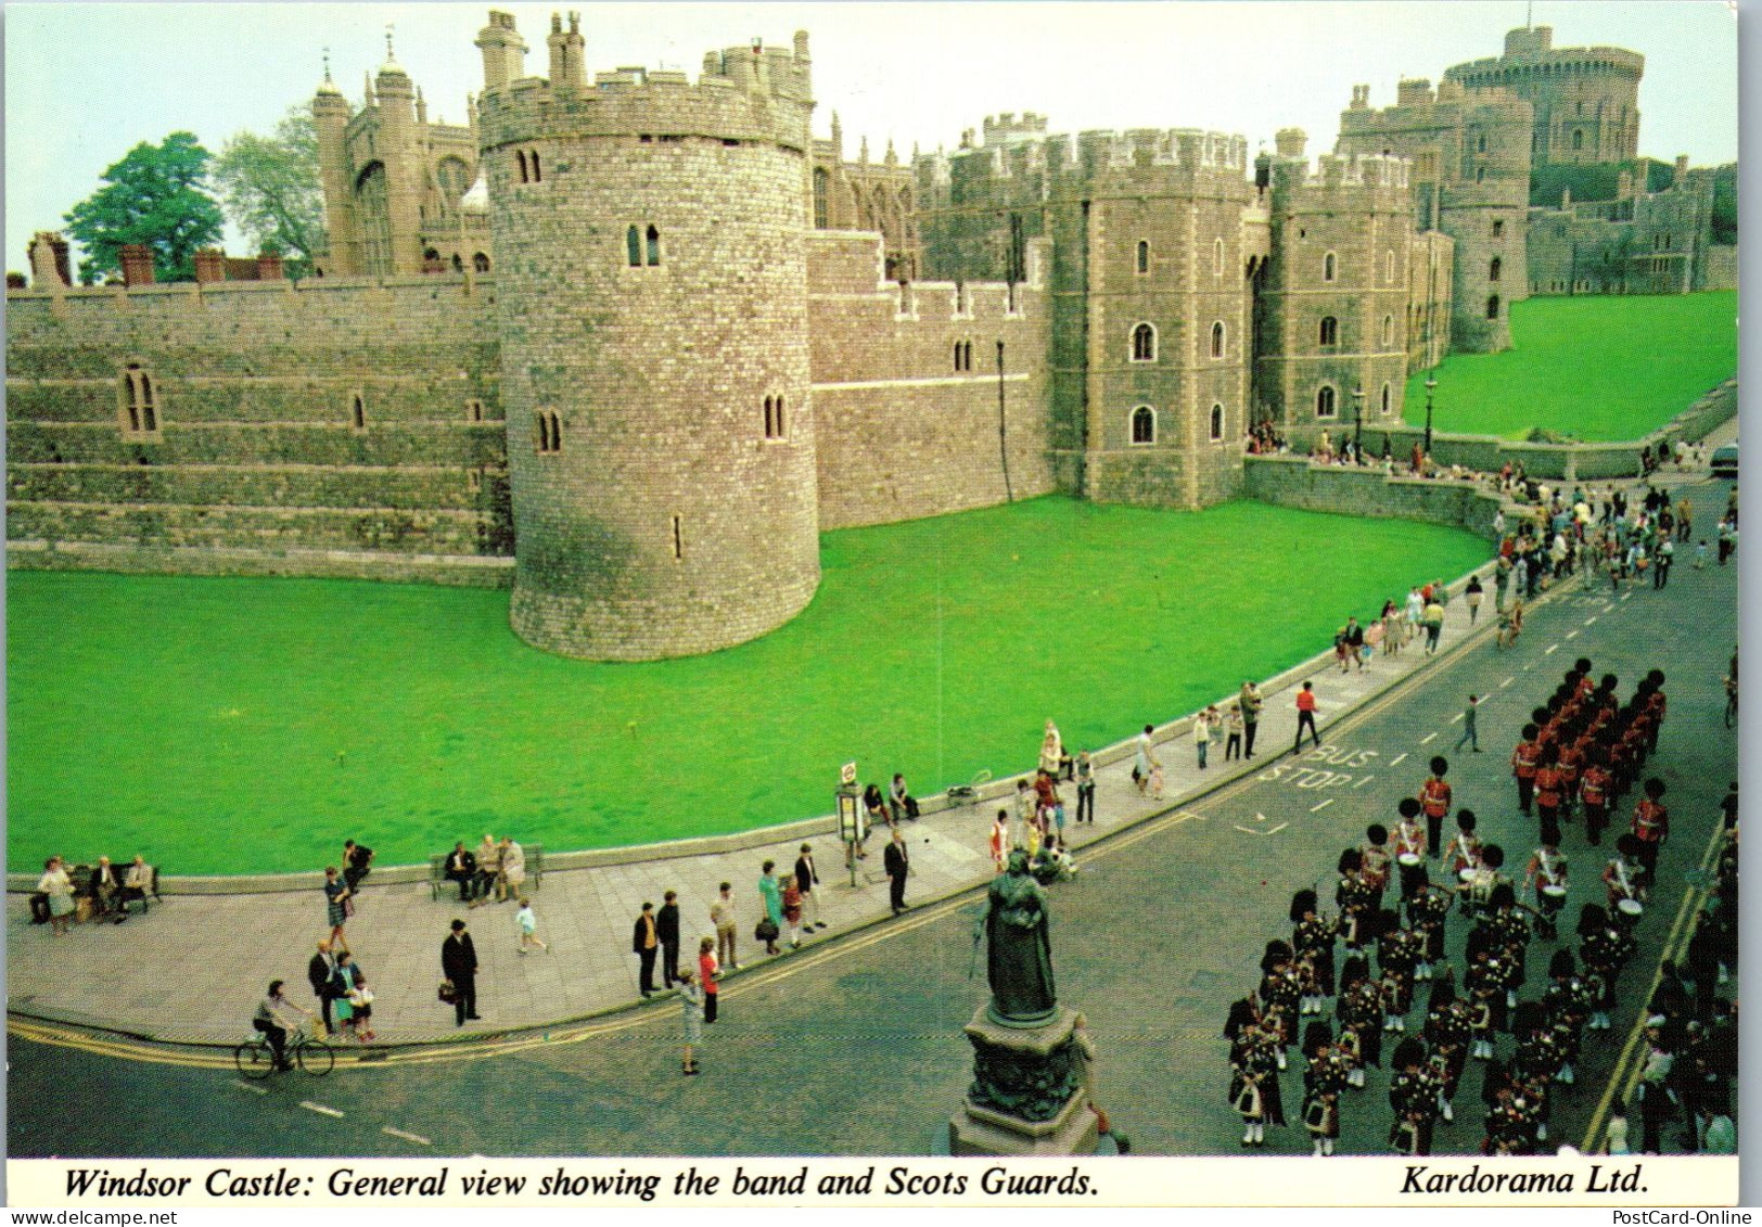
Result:
{"type": "Polygon", "coordinates": [[[511,622],[566,656],[710,652],[819,584],[807,349],[807,35],[548,81],[478,39],[516,569],[511,622]]]}

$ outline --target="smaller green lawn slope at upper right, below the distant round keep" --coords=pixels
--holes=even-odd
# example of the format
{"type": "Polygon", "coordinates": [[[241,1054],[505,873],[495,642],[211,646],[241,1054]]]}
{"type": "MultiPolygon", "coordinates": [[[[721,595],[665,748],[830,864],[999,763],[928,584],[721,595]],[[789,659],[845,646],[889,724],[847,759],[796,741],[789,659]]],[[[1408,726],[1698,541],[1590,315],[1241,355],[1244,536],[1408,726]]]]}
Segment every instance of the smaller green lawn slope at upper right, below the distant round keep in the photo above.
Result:
{"type": "Polygon", "coordinates": [[[1455,354],[1408,379],[1406,420],[1522,439],[1639,439],[1737,372],[1737,293],[1529,298],[1512,303],[1512,349],[1455,354]]]}

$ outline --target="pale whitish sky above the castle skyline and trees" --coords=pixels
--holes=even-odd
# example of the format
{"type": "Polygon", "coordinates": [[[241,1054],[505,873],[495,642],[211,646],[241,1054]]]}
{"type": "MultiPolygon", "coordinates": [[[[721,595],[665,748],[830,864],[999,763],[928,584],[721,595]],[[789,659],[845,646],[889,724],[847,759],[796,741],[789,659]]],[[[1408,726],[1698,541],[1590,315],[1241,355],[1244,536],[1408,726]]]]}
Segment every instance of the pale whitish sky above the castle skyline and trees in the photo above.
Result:
{"type": "MultiPolygon", "coordinates": [[[[361,79],[386,56],[423,86],[430,118],[463,122],[481,88],[472,39],[490,4],[7,4],[5,266],[25,268],[37,229],[95,190],[137,141],[187,129],[218,152],[240,129],[268,130],[333,76],[359,104],[361,79]]],[[[553,5],[515,14],[529,72],[548,71],[553,5]]],[[[566,5],[559,5],[566,7],[566,5]]],[[[1396,81],[1494,56],[1522,25],[1522,0],[1286,4],[578,4],[589,71],[678,67],[752,37],[812,39],[816,130],[832,113],[848,155],[867,136],[909,155],[953,148],[987,115],[1040,111],[1052,130],[1202,127],[1240,132],[1249,148],[1281,127],[1329,148],[1355,83],[1371,104],[1396,81]]],[[[1737,157],[1737,21],[1720,0],[1538,2],[1554,46],[1619,46],[1646,55],[1640,152],[1693,164],[1737,157]]],[[[236,234],[229,249],[243,252],[236,234]]]]}

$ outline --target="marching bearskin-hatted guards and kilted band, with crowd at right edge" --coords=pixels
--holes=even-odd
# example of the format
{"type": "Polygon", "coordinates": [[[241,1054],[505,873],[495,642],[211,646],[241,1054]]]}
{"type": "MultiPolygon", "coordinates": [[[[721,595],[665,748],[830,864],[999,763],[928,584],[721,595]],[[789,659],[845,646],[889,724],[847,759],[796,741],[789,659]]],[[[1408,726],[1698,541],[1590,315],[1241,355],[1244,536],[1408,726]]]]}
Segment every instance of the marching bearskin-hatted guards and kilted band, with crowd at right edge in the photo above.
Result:
{"type": "Polygon", "coordinates": [[[1618,679],[1593,679],[1591,661],[1581,658],[1535,709],[1512,755],[1517,807],[1538,825],[1521,874],[1517,857],[1477,834],[1475,813],[1457,806],[1447,779],[1448,762],[1434,756],[1394,829],[1371,823],[1362,844],[1341,851],[1332,910],[1316,889],[1292,897],[1290,938],[1265,943],[1260,982],[1230,1007],[1223,1031],[1242,1146],[1265,1146],[1267,1128],[1290,1125],[1281,1075],[1292,1070],[1300,1074],[1297,1119],[1313,1153],[1332,1155],[1341,1118],[1376,1111],[1360,1109],[1353,1091],[1366,1088],[1367,1070],[1383,1068],[1387,1037],[1394,1151],[1431,1153],[1440,1125],[1455,1121],[1462,1074],[1475,1061],[1484,1070],[1480,1153],[1545,1153],[1554,1107],[1573,1093],[1586,1033],[1610,1030],[1612,1015],[1632,1007],[1644,1012],[1649,1049],[1635,1102],[1607,1130],[1609,1151],[1630,1148],[1632,1114],[1642,1121],[1646,1153],[1665,1146],[1662,1130],[1674,1116],[1684,1125],[1681,1149],[1730,1149],[1736,1005],[1718,987],[1736,968],[1736,785],[1709,906],[1686,959],[1665,964],[1649,998],[1635,977],[1623,984],[1670,830],[1663,781],[1640,783],[1663,716],[1662,673],[1647,673],[1623,703],[1618,679]],[[1563,931],[1573,894],[1563,827],[1582,816],[1586,846],[1600,846],[1609,814],[1635,790],[1630,829],[1602,867],[1600,897],[1582,901],[1577,924],[1563,931]],[[1445,844],[1452,807],[1455,832],[1445,844]],[[1462,929],[1455,957],[1452,915],[1462,929]],[[1538,945],[1552,947],[1545,959],[1538,945]]]}

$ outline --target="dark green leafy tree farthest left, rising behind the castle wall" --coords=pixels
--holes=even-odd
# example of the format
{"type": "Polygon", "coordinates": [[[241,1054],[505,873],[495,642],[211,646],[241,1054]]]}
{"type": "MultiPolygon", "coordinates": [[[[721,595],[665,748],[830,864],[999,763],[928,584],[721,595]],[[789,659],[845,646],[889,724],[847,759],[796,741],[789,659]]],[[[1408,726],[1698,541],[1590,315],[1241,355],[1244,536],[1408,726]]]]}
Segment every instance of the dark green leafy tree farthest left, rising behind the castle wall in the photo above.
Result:
{"type": "Polygon", "coordinates": [[[211,159],[192,132],[173,132],[157,146],[141,141],[106,169],[104,187],[65,219],[85,250],[79,279],[118,271],[123,243],[146,243],[157,280],[190,280],[197,249],[220,242],[220,206],[204,190],[211,159]]]}

